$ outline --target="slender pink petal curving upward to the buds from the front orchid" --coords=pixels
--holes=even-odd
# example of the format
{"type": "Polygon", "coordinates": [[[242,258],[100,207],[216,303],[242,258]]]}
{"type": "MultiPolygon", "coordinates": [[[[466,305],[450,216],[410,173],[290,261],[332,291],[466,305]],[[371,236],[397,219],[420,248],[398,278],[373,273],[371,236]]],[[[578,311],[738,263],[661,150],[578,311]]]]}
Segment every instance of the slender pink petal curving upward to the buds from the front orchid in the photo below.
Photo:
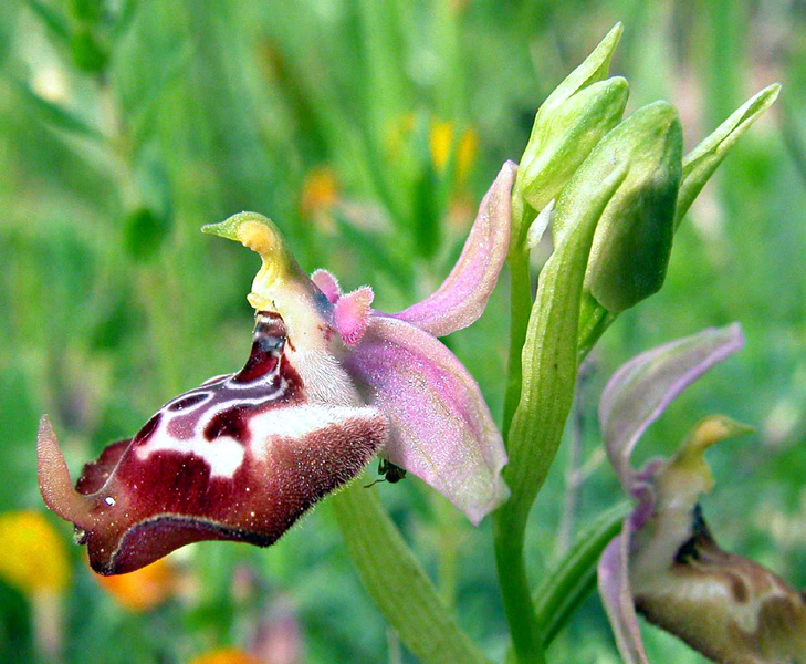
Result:
{"type": "Polygon", "coordinates": [[[506,162],[481,201],[459,261],[439,289],[421,302],[391,314],[444,336],[483,313],[510,246],[510,199],[516,166],[506,162]]]}

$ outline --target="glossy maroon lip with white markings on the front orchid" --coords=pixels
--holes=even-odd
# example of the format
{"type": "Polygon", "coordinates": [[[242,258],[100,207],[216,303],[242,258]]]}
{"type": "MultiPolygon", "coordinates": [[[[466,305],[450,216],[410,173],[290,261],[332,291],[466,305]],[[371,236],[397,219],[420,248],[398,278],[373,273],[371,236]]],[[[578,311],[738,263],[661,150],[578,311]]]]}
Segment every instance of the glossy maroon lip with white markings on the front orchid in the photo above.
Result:
{"type": "Polygon", "coordinates": [[[370,407],[308,404],[285,334],[278,314],[259,313],[239,373],[168,402],[87,464],[75,489],[43,418],[43,496],[75,523],[95,571],[130,572],[201,540],[272,544],[369,461],[386,419],[370,407]],[[272,426],[289,421],[294,432],[272,426]]]}

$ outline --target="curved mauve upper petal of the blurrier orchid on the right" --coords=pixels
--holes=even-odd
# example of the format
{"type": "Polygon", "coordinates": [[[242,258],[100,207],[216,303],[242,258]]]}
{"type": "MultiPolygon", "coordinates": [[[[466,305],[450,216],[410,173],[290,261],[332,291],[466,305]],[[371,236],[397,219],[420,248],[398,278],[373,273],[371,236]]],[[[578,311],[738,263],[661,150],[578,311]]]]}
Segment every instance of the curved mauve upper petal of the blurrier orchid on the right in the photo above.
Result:
{"type": "Polygon", "coordinates": [[[709,328],[641,353],[613,375],[599,401],[599,425],[626,491],[635,481],[630,457],[647,427],[683,390],[743,343],[736,323],[709,328]]]}

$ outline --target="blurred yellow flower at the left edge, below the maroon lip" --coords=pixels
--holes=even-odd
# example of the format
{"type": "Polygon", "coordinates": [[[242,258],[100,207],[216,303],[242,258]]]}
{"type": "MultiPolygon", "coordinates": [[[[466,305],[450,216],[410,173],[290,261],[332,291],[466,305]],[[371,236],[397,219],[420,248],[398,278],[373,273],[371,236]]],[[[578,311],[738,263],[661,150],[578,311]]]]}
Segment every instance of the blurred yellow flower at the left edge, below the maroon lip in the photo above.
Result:
{"type": "Polygon", "coordinates": [[[64,542],[40,512],[0,515],[0,578],[29,595],[66,588],[70,567],[64,542]]]}

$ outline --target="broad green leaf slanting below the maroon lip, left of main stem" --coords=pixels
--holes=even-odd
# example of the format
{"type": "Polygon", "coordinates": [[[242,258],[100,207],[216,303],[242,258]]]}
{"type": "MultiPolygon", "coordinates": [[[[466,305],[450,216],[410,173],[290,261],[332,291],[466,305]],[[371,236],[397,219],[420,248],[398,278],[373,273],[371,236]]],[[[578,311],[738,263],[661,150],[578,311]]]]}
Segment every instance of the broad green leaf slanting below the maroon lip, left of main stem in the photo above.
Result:
{"type": "Polygon", "coordinates": [[[400,640],[423,664],[485,663],[384,510],[359,478],[331,497],[356,571],[400,640]]]}

